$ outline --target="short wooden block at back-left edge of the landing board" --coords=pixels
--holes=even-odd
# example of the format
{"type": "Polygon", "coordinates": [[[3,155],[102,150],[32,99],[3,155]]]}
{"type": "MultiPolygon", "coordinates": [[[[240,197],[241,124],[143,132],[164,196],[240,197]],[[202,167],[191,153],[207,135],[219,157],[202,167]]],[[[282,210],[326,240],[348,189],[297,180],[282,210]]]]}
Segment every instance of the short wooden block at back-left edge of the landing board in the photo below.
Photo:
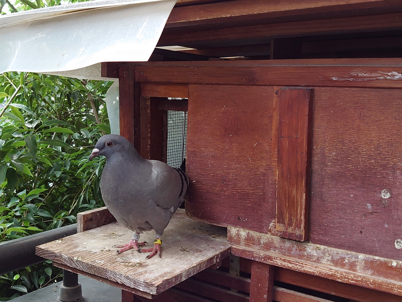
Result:
{"type": "Polygon", "coordinates": [[[115,217],[106,207],[78,213],[77,232],[84,232],[115,221],[115,217]]]}

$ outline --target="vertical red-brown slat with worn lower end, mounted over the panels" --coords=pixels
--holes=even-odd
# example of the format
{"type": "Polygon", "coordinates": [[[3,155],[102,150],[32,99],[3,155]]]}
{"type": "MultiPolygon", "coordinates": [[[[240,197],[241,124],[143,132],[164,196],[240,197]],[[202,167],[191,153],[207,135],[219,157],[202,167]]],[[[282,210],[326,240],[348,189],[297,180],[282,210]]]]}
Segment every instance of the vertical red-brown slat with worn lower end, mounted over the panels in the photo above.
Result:
{"type": "Polygon", "coordinates": [[[279,90],[277,234],[304,241],[308,232],[308,188],[312,90],[279,90]]]}

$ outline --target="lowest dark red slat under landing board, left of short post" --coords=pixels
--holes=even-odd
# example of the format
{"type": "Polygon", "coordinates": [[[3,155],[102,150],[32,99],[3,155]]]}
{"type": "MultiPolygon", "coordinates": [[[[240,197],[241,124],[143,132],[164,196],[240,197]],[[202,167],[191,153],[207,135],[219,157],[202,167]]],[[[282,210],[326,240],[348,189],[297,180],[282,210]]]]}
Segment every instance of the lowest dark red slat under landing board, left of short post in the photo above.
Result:
{"type": "Polygon", "coordinates": [[[177,284],[175,288],[186,290],[206,298],[218,300],[220,302],[248,302],[248,295],[241,294],[229,289],[221,288],[210,283],[197,281],[193,278],[186,279],[177,284]]]}

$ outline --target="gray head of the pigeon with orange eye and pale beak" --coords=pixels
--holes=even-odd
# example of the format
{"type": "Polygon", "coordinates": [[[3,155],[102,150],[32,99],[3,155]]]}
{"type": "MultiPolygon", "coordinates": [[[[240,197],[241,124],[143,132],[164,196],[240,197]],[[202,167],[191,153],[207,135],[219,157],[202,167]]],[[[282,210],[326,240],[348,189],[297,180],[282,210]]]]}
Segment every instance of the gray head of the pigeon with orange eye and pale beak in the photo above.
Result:
{"type": "Polygon", "coordinates": [[[133,145],[124,137],[117,134],[106,134],[96,143],[91,155],[89,155],[89,160],[100,155],[108,159],[115,153],[138,154],[133,145]]]}

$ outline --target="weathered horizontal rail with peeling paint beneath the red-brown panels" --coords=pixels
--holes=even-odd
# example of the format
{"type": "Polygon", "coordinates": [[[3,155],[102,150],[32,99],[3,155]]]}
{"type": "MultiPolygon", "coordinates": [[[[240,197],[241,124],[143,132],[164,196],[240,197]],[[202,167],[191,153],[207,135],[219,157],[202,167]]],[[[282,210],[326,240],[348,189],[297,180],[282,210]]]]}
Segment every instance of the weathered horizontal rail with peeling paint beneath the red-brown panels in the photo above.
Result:
{"type": "Polygon", "coordinates": [[[402,261],[229,227],[232,254],[402,296],[402,261]]]}

